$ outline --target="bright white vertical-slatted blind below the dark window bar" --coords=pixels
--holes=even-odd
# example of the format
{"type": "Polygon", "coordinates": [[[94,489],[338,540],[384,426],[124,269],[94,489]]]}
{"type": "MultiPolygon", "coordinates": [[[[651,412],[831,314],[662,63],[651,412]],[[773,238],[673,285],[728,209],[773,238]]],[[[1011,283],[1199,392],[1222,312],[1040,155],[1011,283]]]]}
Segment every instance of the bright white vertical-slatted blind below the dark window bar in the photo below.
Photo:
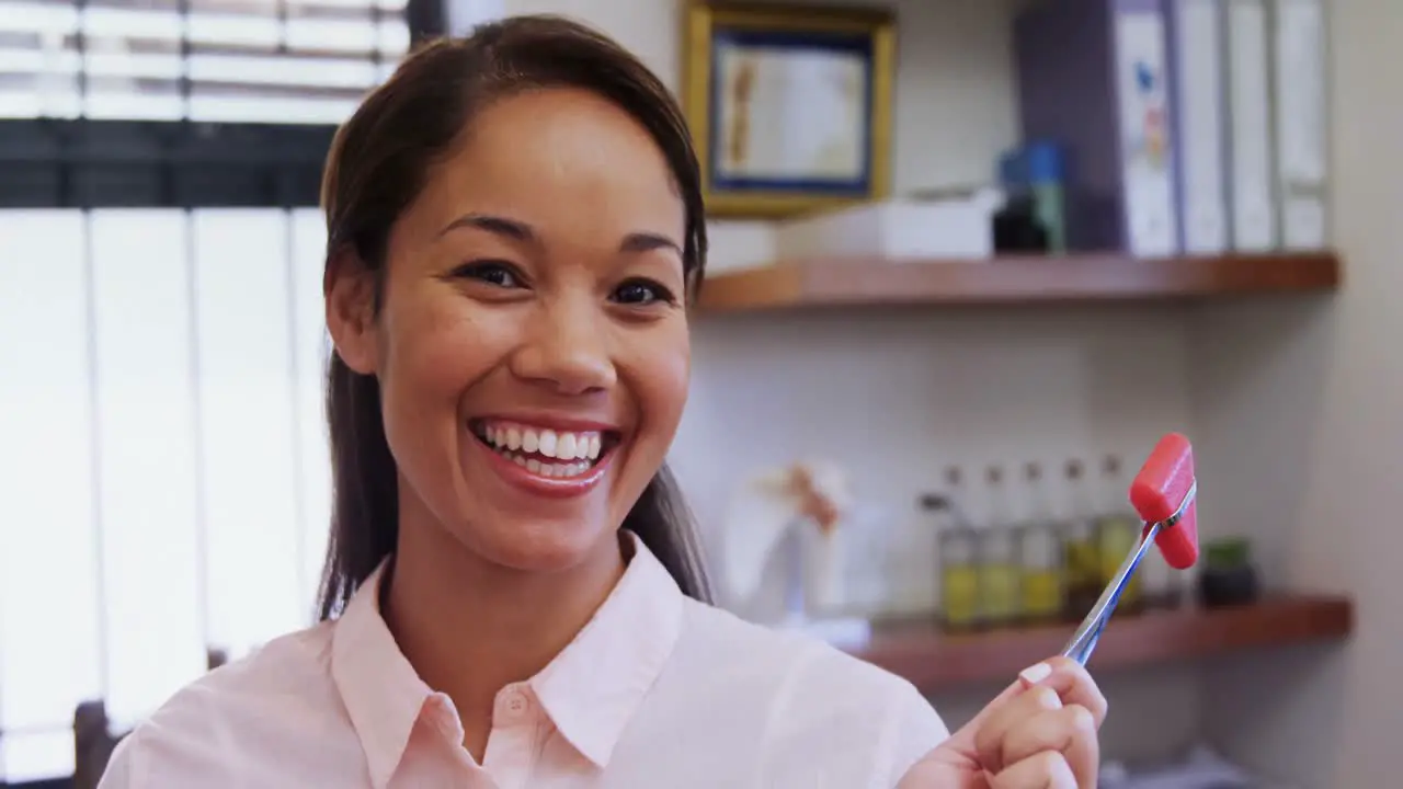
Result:
{"type": "Polygon", "coordinates": [[[0,786],[311,623],[331,515],[317,209],[0,211],[0,786]]]}

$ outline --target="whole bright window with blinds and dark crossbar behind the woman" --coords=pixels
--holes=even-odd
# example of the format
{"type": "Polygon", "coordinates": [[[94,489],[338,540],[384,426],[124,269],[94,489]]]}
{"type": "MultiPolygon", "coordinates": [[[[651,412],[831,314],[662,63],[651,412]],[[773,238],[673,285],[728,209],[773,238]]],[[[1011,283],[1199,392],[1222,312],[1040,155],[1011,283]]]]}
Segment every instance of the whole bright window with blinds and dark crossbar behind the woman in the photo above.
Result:
{"type": "Polygon", "coordinates": [[[0,343],[0,786],[72,774],[79,702],[121,733],[206,647],[304,623],[331,482],[325,239],[299,206],[442,18],[0,0],[0,334],[29,340],[0,343]]]}

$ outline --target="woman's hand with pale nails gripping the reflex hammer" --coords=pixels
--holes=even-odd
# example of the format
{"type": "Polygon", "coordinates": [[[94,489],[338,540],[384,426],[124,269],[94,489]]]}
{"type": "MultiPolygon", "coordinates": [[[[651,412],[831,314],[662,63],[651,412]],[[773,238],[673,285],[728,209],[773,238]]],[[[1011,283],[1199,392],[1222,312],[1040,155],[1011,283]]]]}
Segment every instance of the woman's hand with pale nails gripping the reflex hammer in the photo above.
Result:
{"type": "Polygon", "coordinates": [[[1106,696],[1055,657],[1026,668],[901,779],[898,789],[1096,789],[1106,696]]]}

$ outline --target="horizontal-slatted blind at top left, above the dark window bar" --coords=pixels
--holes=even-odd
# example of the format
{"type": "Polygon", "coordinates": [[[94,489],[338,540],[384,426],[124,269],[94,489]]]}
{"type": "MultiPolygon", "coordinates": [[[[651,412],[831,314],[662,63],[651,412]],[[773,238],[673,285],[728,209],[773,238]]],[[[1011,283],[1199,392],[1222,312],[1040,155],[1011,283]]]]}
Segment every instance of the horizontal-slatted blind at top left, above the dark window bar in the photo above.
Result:
{"type": "Polygon", "coordinates": [[[340,124],[405,0],[0,0],[0,117],[340,124]]]}

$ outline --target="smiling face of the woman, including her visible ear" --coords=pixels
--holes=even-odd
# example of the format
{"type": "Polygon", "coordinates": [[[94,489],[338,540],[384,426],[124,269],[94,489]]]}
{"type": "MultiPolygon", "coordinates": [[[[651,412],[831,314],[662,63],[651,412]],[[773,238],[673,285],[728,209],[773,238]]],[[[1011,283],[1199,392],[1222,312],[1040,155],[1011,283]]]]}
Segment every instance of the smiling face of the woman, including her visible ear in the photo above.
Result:
{"type": "Polygon", "coordinates": [[[682,417],[683,204],[644,128],[589,93],[505,98],[469,132],[338,350],[379,378],[401,528],[421,512],[488,562],[558,570],[613,539],[682,417]]]}

